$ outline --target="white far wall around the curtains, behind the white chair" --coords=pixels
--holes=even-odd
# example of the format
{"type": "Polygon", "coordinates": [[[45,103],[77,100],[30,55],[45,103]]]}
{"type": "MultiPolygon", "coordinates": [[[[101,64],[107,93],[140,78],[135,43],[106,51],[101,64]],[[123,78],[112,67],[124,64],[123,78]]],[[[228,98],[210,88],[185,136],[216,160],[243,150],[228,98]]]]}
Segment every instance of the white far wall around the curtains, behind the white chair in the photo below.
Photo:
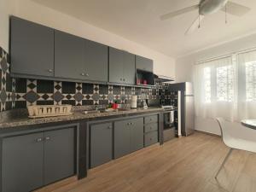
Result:
{"type": "MultiPolygon", "coordinates": [[[[212,57],[227,55],[244,49],[256,47],[256,34],[233,40],[229,43],[221,44],[209,49],[201,50],[192,55],[183,56],[176,61],[176,82],[194,82],[194,66],[197,61],[203,61],[212,57]]],[[[244,129],[241,124],[230,123],[229,126],[237,129],[244,129]]],[[[195,118],[195,129],[220,134],[218,124],[215,119],[195,118]]],[[[255,138],[256,139],[256,138],[255,138]]]]}

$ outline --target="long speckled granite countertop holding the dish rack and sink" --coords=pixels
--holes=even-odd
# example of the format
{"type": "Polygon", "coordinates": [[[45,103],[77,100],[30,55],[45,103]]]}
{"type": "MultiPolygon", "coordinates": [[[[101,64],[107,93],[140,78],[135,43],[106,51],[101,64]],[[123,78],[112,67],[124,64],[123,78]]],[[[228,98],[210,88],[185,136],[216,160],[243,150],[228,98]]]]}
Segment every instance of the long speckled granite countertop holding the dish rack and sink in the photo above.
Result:
{"type": "Polygon", "coordinates": [[[133,114],[143,114],[143,113],[158,113],[162,112],[164,109],[162,108],[137,108],[137,109],[131,109],[127,111],[118,111],[118,112],[106,112],[106,113],[90,113],[90,114],[84,114],[81,111],[74,112],[71,115],[67,116],[58,116],[58,117],[47,117],[47,118],[38,118],[38,119],[29,119],[27,115],[15,115],[11,119],[6,119],[3,122],[0,122],[0,130],[2,129],[8,129],[8,128],[15,128],[20,126],[26,126],[26,125],[41,125],[41,124],[47,124],[47,123],[55,123],[55,122],[61,122],[61,121],[76,121],[79,119],[85,119],[85,120],[96,120],[96,119],[102,119],[102,118],[114,118],[119,116],[130,116],[133,114]]]}

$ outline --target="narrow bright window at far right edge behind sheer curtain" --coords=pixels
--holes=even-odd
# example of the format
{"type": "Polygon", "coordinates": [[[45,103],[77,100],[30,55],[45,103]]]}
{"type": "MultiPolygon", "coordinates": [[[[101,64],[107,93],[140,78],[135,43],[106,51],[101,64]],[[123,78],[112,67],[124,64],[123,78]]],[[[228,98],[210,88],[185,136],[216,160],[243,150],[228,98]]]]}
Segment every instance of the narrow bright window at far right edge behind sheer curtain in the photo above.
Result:
{"type": "Polygon", "coordinates": [[[245,70],[247,102],[256,101],[256,61],[246,62],[245,70]]]}

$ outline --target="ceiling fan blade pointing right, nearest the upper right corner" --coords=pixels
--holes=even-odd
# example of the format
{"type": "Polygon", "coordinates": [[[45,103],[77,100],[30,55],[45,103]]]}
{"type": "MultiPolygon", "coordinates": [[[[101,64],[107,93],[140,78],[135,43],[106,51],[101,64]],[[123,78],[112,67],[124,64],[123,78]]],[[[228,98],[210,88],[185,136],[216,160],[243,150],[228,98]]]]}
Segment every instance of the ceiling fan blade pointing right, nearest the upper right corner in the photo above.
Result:
{"type": "MultiPolygon", "coordinates": [[[[227,13],[230,15],[242,16],[247,14],[247,12],[249,12],[250,10],[250,8],[246,6],[243,6],[238,3],[230,2],[230,1],[226,4],[226,6],[227,6],[227,13]]],[[[225,8],[221,10],[225,11],[225,8]]]]}

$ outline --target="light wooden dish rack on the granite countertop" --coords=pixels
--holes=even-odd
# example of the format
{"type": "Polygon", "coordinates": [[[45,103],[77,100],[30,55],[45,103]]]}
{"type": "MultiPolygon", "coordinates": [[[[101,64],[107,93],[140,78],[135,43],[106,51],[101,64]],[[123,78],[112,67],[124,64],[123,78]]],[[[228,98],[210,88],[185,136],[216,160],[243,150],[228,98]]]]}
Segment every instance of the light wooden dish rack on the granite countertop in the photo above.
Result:
{"type": "Polygon", "coordinates": [[[72,105],[32,105],[27,106],[29,118],[70,115],[72,105]]]}

